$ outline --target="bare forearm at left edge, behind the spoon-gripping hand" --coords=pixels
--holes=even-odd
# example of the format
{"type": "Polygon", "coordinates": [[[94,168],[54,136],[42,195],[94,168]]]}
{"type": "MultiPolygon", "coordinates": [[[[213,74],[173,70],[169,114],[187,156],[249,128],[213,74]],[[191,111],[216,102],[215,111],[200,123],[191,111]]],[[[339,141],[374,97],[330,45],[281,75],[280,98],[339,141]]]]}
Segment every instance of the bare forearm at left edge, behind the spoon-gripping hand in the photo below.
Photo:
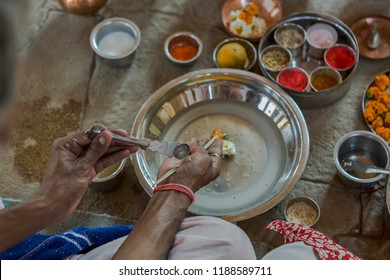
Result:
{"type": "Polygon", "coordinates": [[[52,224],[50,203],[35,198],[0,211],[0,252],[52,224]]]}

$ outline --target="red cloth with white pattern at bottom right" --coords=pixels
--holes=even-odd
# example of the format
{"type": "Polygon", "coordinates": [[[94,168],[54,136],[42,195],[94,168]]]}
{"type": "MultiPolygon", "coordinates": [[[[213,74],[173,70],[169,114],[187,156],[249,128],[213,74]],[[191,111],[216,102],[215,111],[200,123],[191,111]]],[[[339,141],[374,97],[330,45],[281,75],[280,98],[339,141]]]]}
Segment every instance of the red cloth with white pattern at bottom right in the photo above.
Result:
{"type": "Polygon", "coordinates": [[[285,243],[305,242],[307,245],[313,247],[314,251],[322,260],[361,259],[321,232],[300,224],[277,220],[270,223],[266,229],[271,229],[282,234],[285,243]]]}

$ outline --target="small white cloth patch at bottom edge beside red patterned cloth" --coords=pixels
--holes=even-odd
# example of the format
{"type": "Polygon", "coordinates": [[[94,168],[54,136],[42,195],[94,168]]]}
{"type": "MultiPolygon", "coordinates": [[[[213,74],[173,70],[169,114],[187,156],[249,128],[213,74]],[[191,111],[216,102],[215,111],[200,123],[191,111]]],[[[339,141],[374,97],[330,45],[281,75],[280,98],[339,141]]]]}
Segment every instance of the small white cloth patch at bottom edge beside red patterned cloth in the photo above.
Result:
{"type": "Polygon", "coordinates": [[[268,252],[263,260],[319,260],[313,248],[304,242],[284,244],[268,252]]]}

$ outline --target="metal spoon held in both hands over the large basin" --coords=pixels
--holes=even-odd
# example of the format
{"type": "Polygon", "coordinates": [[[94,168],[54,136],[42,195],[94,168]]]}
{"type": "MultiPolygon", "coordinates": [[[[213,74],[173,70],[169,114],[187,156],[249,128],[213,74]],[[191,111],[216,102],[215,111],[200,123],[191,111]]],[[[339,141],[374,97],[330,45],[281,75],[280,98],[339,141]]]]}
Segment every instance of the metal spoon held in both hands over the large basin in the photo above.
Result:
{"type": "Polygon", "coordinates": [[[143,150],[150,150],[168,157],[183,159],[190,154],[190,146],[185,143],[157,141],[148,138],[137,139],[131,136],[125,137],[113,133],[101,124],[95,124],[85,131],[90,139],[93,139],[102,131],[109,131],[112,135],[111,146],[128,147],[129,145],[137,145],[143,150]]]}

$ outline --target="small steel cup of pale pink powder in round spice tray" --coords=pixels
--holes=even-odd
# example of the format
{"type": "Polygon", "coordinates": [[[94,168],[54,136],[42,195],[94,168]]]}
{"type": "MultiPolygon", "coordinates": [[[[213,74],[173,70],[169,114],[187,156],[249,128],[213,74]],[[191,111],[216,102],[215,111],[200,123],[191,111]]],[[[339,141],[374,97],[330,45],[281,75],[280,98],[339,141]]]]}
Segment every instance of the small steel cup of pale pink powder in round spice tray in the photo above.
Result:
{"type": "Polygon", "coordinates": [[[315,58],[322,59],[325,50],[334,46],[337,39],[336,29],[329,24],[313,24],[307,30],[307,42],[310,46],[310,53],[315,58]]]}

